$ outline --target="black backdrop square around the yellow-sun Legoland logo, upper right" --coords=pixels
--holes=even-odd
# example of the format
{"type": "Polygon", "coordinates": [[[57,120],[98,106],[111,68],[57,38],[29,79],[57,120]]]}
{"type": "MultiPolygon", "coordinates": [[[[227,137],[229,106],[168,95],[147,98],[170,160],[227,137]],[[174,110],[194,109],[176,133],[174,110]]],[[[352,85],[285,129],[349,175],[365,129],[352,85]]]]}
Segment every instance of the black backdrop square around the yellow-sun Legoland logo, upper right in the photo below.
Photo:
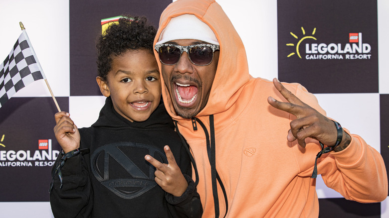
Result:
{"type": "Polygon", "coordinates": [[[378,93],[377,0],[278,0],[277,6],[280,81],[298,82],[311,93],[378,93]],[[371,46],[370,59],[346,59],[346,54],[331,60],[305,57],[306,43],[340,43],[344,50],[349,33],[360,32],[363,43],[371,46]],[[292,52],[296,54],[288,57],[292,52]]]}

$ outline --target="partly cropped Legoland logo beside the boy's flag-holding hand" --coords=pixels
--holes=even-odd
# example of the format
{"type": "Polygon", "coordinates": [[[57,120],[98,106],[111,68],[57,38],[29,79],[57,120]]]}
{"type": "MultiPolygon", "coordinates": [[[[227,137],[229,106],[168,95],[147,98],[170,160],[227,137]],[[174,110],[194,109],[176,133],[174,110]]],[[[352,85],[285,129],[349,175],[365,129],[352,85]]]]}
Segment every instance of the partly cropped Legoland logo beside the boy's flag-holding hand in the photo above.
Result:
{"type": "Polygon", "coordinates": [[[59,151],[51,148],[51,139],[39,139],[37,150],[1,150],[0,167],[52,166],[58,154],[59,151]]]}

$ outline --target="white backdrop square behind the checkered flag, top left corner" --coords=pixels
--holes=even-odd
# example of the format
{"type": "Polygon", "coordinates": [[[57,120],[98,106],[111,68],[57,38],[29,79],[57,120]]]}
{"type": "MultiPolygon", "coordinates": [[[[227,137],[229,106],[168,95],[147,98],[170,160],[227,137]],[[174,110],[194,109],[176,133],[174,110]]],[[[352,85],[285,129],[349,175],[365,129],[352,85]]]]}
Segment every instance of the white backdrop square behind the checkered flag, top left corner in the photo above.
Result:
{"type": "MultiPolygon", "coordinates": [[[[21,34],[28,37],[55,96],[69,96],[69,0],[2,0],[0,61],[21,34]]],[[[50,96],[44,80],[21,89],[14,97],[50,96]]]]}

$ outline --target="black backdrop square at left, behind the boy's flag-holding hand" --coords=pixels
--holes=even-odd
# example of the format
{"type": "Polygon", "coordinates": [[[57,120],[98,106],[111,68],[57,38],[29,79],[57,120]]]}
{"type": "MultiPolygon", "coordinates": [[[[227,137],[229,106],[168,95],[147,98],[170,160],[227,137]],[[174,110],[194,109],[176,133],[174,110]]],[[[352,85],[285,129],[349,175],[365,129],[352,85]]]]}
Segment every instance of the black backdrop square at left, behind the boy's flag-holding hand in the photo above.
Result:
{"type": "MultiPolygon", "coordinates": [[[[69,111],[68,97],[59,97],[56,100],[61,110],[69,111]]],[[[35,162],[52,164],[55,158],[52,158],[53,160],[27,158],[33,158],[35,151],[39,151],[38,141],[42,139],[51,139],[52,150],[60,150],[53,131],[56,112],[58,110],[51,97],[11,98],[0,108],[0,152],[30,152],[29,155],[19,155],[25,159],[23,161],[0,160],[0,202],[49,201],[52,166],[35,166],[35,162]],[[7,166],[7,162],[9,164],[27,162],[31,166],[7,166]]],[[[6,155],[0,159],[7,159],[6,155]]]]}

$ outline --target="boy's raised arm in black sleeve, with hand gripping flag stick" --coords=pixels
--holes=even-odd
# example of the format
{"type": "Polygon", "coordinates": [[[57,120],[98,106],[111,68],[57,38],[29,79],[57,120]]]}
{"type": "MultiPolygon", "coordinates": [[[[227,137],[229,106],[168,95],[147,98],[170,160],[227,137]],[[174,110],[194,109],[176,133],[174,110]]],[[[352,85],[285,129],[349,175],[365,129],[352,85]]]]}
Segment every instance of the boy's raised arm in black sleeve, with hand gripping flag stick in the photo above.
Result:
{"type": "Polygon", "coordinates": [[[89,217],[92,189],[88,165],[80,153],[81,136],[68,112],[54,115],[54,134],[62,151],[51,170],[50,205],[55,218],[89,217]]]}

